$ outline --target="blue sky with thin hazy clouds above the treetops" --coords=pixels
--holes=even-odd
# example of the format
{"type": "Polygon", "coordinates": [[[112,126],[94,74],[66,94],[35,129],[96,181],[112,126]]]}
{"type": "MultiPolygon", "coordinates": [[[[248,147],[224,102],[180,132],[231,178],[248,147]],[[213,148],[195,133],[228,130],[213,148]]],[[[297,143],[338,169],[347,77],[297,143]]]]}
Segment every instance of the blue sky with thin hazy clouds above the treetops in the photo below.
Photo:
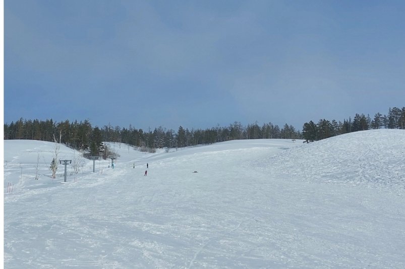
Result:
{"type": "Polygon", "coordinates": [[[4,121],[177,130],[386,114],[403,1],[5,0],[4,121]]]}

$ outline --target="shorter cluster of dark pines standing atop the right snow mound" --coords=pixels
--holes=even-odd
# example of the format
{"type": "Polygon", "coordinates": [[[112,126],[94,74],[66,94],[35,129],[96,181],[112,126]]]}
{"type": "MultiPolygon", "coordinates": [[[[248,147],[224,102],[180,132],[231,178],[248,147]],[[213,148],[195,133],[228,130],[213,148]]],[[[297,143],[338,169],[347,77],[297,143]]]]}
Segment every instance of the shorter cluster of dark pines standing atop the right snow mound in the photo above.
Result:
{"type": "Polygon", "coordinates": [[[405,129],[405,107],[389,108],[388,115],[377,113],[373,119],[370,115],[356,114],[353,120],[349,118],[349,120],[344,119],[343,122],[325,119],[319,120],[318,123],[306,122],[302,136],[306,140],[315,141],[345,133],[381,128],[405,129]]]}

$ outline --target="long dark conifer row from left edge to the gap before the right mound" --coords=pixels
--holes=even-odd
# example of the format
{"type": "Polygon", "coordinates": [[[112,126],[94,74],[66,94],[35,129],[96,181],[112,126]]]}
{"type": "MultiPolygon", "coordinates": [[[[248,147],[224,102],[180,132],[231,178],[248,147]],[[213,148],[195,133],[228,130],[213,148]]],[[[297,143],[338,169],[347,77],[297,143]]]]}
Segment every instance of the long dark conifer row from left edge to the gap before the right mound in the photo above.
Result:
{"type": "Polygon", "coordinates": [[[228,127],[207,129],[185,129],[177,131],[163,127],[153,131],[105,125],[102,128],[92,127],[88,120],[54,122],[50,120],[24,120],[4,124],[4,139],[32,139],[53,142],[53,134],[62,134],[61,143],[78,150],[90,151],[90,155],[104,152],[103,142],[126,143],[139,148],[181,148],[199,144],[212,144],[235,139],[287,138],[300,139],[300,131],[292,125],[285,124],[279,128],[272,123],[261,126],[258,123],[243,126],[234,122],[228,127]]]}

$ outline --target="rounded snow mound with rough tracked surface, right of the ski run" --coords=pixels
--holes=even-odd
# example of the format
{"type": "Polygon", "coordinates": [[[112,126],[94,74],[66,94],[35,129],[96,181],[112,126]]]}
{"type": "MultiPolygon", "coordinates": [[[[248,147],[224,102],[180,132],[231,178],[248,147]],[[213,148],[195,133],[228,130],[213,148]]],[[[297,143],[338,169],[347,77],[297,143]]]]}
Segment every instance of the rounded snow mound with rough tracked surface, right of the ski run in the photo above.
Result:
{"type": "Polygon", "coordinates": [[[405,188],[404,153],[405,130],[368,130],[291,148],[265,166],[303,181],[405,188]]]}

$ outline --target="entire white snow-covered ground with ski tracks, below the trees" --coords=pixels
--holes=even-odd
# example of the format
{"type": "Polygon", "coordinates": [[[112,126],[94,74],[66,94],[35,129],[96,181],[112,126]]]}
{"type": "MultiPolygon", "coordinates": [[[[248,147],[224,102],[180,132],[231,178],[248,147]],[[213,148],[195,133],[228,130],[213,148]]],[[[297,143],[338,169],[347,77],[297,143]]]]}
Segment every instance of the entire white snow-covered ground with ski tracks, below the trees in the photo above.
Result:
{"type": "Polygon", "coordinates": [[[50,177],[53,143],[4,144],[6,268],[405,268],[403,130],[109,143],[115,168],[94,172],[61,146],[66,183],[64,165],[50,177]]]}

